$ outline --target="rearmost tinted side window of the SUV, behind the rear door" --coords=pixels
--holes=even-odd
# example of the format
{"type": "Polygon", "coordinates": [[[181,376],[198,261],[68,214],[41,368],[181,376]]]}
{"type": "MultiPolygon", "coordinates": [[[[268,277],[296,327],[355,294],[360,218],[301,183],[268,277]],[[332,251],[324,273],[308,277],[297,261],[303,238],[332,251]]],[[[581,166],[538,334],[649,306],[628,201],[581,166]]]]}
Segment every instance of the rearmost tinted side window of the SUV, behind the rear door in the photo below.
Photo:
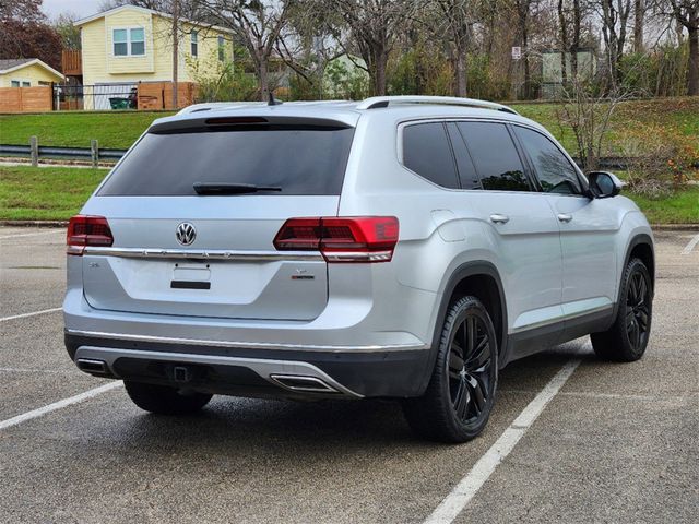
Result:
{"type": "Polygon", "coordinates": [[[438,186],[459,188],[454,159],[441,122],[403,129],[403,164],[438,186]]]}

